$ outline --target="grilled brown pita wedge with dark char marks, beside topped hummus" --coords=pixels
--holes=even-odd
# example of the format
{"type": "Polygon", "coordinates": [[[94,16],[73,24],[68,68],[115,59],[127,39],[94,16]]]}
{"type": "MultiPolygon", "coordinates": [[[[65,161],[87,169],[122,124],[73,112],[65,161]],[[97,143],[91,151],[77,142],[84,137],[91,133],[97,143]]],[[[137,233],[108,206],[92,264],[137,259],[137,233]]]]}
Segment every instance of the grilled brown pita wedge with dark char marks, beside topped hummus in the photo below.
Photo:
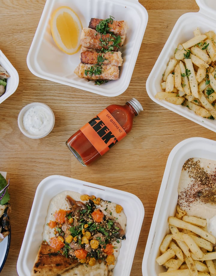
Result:
{"type": "Polygon", "coordinates": [[[67,258],[50,245],[42,242],[31,276],[57,276],[78,264],[77,259],[67,258]]]}

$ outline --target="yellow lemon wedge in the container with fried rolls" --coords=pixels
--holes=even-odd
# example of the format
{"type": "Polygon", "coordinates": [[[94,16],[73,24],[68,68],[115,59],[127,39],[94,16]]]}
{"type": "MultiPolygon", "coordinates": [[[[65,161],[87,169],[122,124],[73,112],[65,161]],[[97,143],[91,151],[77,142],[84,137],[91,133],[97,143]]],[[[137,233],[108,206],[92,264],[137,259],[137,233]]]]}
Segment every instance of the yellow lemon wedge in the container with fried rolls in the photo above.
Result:
{"type": "Polygon", "coordinates": [[[82,23],[70,7],[57,8],[52,13],[50,27],[52,38],[61,51],[69,55],[78,52],[82,23]]]}

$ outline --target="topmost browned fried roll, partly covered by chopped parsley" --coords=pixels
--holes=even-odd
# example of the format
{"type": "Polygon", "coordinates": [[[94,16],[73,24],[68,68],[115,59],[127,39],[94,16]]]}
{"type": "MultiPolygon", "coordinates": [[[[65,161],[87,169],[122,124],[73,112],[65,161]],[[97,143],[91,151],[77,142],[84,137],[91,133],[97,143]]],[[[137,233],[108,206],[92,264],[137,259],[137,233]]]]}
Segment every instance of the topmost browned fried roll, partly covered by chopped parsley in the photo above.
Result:
{"type": "MultiPolygon", "coordinates": [[[[96,30],[96,26],[102,21],[103,19],[98,18],[91,18],[88,28],[96,30]]],[[[124,44],[126,33],[127,33],[127,22],[124,20],[113,20],[113,23],[108,23],[107,26],[110,28],[110,32],[113,32],[115,35],[120,35],[122,38],[121,45],[124,44]]]]}

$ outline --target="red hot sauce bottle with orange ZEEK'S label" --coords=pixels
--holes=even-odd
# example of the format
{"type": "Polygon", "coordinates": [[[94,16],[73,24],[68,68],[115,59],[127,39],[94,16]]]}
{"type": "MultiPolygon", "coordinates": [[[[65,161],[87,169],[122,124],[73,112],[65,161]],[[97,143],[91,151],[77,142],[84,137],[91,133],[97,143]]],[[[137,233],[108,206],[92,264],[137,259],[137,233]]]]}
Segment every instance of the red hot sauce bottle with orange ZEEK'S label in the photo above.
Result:
{"type": "Polygon", "coordinates": [[[87,166],[131,131],[134,116],[142,110],[135,98],[125,105],[112,104],[74,133],[66,145],[79,162],[87,166]]]}

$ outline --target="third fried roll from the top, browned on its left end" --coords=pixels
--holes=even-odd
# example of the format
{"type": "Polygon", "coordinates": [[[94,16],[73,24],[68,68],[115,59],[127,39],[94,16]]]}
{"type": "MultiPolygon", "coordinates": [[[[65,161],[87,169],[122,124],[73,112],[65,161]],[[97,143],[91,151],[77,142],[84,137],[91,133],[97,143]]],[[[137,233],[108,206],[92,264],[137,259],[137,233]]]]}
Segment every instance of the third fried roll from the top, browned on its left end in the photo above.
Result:
{"type": "Polygon", "coordinates": [[[122,66],[122,53],[118,52],[106,52],[97,53],[92,51],[81,52],[81,63],[87,64],[111,64],[116,66],[122,66]]]}

